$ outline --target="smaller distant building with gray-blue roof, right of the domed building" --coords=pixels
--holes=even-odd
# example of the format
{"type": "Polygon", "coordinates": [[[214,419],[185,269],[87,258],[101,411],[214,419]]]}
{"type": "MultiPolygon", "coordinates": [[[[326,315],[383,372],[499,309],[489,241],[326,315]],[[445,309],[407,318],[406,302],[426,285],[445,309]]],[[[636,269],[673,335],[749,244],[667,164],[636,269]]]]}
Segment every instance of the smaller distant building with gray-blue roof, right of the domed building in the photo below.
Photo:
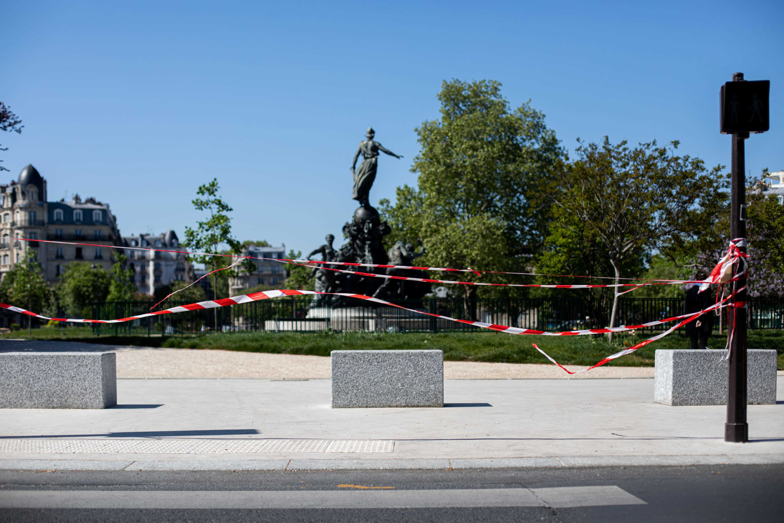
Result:
{"type": "MultiPolygon", "coordinates": [[[[177,234],[171,229],[154,236],[139,234],[123,236],[122,246],[126,248],[165,249],[184,251],[180,247],[177,234]]],[[[154,294],[155,289],[175,281],[194,281],[194,268],[183,252],[159,252],[124,249],[129,268],[134,271],[134,281],[139,292],[154,294]]]]}

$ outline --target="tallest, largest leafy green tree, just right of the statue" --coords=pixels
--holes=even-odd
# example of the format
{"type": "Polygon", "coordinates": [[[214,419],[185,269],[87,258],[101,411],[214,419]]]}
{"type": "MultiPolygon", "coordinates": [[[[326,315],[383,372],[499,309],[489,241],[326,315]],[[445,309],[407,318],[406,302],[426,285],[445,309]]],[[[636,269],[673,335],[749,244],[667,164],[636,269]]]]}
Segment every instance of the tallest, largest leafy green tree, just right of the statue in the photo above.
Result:
{"type": "MultiPolygon", "coordinates": [[[[390,239],[421,238],[427,253],[419,263],[519,269],[544,238],[535,194],[562,154],[555,133],[530,103],[511,109],[500,82],[443,82],[438,100],[441,118],[416,129],[422,148],[412,172],[419,173],[418,187],[399,187],[394,205],[381,202],[393,227],[390,239]]],[[[482,277],[494,279],[503,281],[482,277]]],[[[476,296],[476,286],[462,287],[466,299],[476,296]]]]}

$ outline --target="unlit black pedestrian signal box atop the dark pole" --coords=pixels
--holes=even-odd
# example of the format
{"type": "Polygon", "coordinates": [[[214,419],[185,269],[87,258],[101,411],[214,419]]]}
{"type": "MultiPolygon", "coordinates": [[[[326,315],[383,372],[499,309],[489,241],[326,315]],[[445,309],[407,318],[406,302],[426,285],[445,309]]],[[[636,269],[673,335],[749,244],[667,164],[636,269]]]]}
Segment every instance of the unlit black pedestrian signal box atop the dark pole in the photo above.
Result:
{"type": "Polygon", "coordinates": [[[764,133],[770,129],[770,92],[770,80],[727,82],[722,85],[719,111],[721,133],[764,133]]]}

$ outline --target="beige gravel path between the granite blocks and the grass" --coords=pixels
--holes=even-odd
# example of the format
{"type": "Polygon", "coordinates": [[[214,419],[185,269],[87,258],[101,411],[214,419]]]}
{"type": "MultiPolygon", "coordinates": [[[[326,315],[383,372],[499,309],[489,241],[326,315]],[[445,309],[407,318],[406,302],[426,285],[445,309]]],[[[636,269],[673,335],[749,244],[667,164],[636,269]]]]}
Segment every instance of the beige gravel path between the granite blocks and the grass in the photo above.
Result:
{"type": "MultiPolygon", "coordinates": [[[[329,358],[231,350],[116,348],[118,378],[329,378],[329,358]]],[[[569,370],[585,367],[568,366],[569,370]]],[[[571,376],[555,365],[445,361],[447,380],[641,378],[653,367],[600,367],[571,376]]]]}

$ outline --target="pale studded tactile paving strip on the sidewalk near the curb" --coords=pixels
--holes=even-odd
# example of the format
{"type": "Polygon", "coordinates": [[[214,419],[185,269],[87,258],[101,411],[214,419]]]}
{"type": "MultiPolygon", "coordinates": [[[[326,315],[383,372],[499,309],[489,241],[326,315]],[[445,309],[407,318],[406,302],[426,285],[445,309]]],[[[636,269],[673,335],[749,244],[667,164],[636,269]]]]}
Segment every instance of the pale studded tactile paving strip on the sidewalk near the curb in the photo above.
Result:
{"type": "Polygon", "coordinates": [[[205,454],[241,452],[393,452],[391,440],[0,439],[0,452],[205,454]]]}

